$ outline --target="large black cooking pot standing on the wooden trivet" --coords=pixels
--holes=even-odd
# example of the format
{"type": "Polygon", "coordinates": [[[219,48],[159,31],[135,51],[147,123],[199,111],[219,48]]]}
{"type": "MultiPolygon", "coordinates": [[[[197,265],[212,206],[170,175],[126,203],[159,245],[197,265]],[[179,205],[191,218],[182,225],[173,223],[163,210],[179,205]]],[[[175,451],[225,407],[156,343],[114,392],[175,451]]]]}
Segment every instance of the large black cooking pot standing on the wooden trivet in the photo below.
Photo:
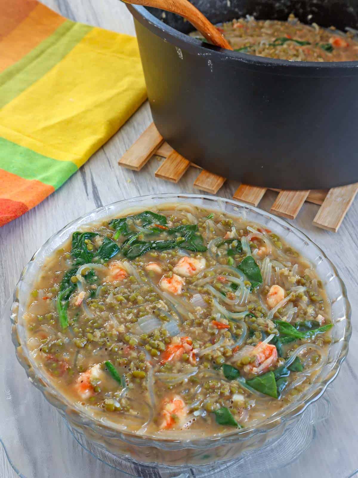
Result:
{"type": "MultiPolygon", "coordinates": [[[[358,27],[358,0],[194,0],[211,22],[256,19],[358,27]]],[[[203,168],[246,184],[317,189],[358,181],[358,61],[290,62],[187,36],[176,15],[128,5],[154,122],[203,168]]]]}

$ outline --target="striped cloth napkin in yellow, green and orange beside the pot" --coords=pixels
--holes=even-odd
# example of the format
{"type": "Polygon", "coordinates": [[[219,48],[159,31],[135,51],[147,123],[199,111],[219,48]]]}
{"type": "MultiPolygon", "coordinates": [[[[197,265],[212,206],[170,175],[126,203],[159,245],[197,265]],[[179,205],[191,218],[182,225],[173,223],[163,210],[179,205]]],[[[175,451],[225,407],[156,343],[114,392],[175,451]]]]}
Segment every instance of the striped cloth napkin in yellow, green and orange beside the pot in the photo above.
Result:
{"type": "Polygon", "coordinates": [[[146,97],[134,37],[0,0],[0,226],[63,185],[146,97]]]}

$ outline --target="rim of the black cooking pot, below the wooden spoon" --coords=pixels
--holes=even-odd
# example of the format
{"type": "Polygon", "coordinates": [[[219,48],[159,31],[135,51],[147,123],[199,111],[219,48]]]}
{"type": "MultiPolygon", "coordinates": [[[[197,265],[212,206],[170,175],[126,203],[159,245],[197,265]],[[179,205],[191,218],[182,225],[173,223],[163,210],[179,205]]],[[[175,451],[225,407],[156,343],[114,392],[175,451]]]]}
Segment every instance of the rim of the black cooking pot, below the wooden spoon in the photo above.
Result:
{"type": "Polygon", "coordinates": [[[282,73],[295,76],[305,76],[307,74],[309,76],[353,76],[358,73],[358,60],[340,62],[289,61],[226,50],[209,43],[202,43],[185,33],[179,32],[160,21],[143,6],[126,3],[126,7],[138,22],[165,42],[171,43],[177,48],[183,48],[190,54],[205,56],[207,60],[212,58],[215,61],[234,61],[238,67],[253,67],[261,71],[264,66],[266,73],[282,73]]]}

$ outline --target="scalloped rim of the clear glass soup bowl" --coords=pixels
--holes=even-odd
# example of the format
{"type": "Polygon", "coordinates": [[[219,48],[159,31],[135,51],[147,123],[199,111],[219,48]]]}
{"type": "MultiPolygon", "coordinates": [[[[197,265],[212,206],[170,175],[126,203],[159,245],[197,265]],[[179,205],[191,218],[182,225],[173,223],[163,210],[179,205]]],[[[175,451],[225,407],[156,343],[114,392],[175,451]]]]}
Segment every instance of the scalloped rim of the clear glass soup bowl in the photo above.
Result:
{"type": "MultiPolygon", "coordinates": [[[[82,421],[76,420],[76,422],[82,423],[85,426],[90,426],[95,432],[99,431],[98,430],[98,426],[99,426],[101,429],[110,430],[112,437],[113,435],[116,435],[117,438],[120,438],[123,441],[126,441],[128,443],[131,443],[131,437],[134,439],[136,437],[139,439],[139,441],[143,442],[143,443],[136,443],[136,445],[142,445],[142,446],[152,445],[162,449],[214,447],[214,446],[219,446],[226,443],[235,443],[241,439],[249,438],[252,436],[250,435],[250,433],[253,433],[253,434],[267,433],[270,430],[273,430],[276,427],[278,427],[280,424],[282,424],[284,420],[291,420],[295,418],[300,413],[304,412],[304,410],[310,403],[316,401],[326,390],[326,387],[328,386],[328,384],[332,380],[334,380],[335,377],[337,376],[340,365],[342,361],[345,359],[345,357],[347,356],[347,352],[348,352],[348,342],[351,336],[351,322],[350,322],[351,308],[347,299],[347,292],[346,292],[345,285],[340,279],[335,266],[326,257],[326,254],[311,239],[309,239],[303,232],[299,231],[294,226],[291,226],[284,219],[273,216],[272,214],[267,213],[266,211],[263,211],[262,209],[259,209],[257,207],[249,206],[242,202],[235,201],[232,199],[226,199],[223,197],[206,196],[206,195],[199,195],[199,194],[177,194],[177,193],[137,196],[130,199],[123,199],[121,201],[116,201],[107,206],[96,208],[84,214],[83,216],[78,217],[74,221],[71,221],[69,224],[67,224],[64,228],[60,229],[57,233],[53,234],[53,236],[51,236],[42,245],[42,247],[39,248],[34,253],[31,261],[29,261],[29,263],[24,267],[23,271],[21,272],[20,280],[17,283],[14,294],[13,294],[14,302],[13,302],[12,309],[16,311],[17,306],[20,303],[19,292],[21,293],[22,284],[25,281],[26,273],[30,264],[36,261],[38,256],[41,254],[41,252],[45,248],[51,246],[51,244],[55,241],[55,239],[58,239],[61,236],[62,241],[59,242],[53,248],[53,251],[56,250],[60,246],[60,244],[63,243],[64,240],[66,240],[66,238],[69,237],[69,234],[73,232],[74,227],[80,227],[80,226],[82,227],[86,224],[94,223],[96,222],[96,220],[104,220],[106,217],[109,217],[112,215],[119,215],[122,211],[126,211],[126,209],[128,208],[130,209],[138,208],[143,210],[142,206],[146,206],[150,208],[153,206],[158,206],[158,204],[178,203],[178,202],[184,203],[184,204],[192,204],[191,201],[198,201],[198,200],[203,200],[205,203],[211,202],[211,205],[203,204],[202,207],[204,208],[212,208],[212,209],[216,208],[219,210],[223,210],[222,206],[223,204],[226,204],[226,205],[232,206],[233,208],[235,207],[238,208],[237,210],[234,209],[234,211],[230,211],[229,214],[239,216],[240,212],[251,211],[256,213],[262,218],[269,219],[270,221],[273,221],[277,225],[285,229],[288,229],[290,232],[294,233],[296,237],[299,237],[301,240],[305,241],[305,243],[308,243],[307,245],[310,245],[311,247],[313,246],[314,248],[316,248],[317,253],[320,256],[322,256],[322,258],[329,264],[331,272],[333,273],[333,276],[338,279],[338,284],[341,289],[343,309],[344,309],[344,317],[341,320],[345,320],[346,324],[344,327],[344,335],[343,337],[340,337],[339,339],[339,342],[342,343],[339,354],[337,358],[335,359],[335,361],[333,362],[331,368],[326,373],[326,376],[319,377],[320,381],[318,382],[314,381],[313,384],[303,393],[303,396],[304,396],[303,399],[300,399],[297,402],[291,403],[290,405],[284,407],[284,409],[282,409],[282,411],[280,411],[279,414],[275,414],[274,416],[268,417],[266,420],[263,420],[263,422],[248,429],[242,429],[242,430],[235,429],[233,432],[225,434],[225,435],[211,436],[211,437],[204,437],[204,438],[194,438],[193,440],[180,440],[180,439],[166,438],[166,437],[161,438],[161,437],[153,436],[153,435],[137,435],[136,432],[126,432],[126,431],[118,430],[115,427],[111,427],[110,424],[108,424],[108,422],[106,424],[103,424],[100,420],[95,419],[91,415],[85,413],[83,408],[77,407],[76,405],[74,405],[73,402],[70,402],[66,397],[64,397],[58,390],[55,389],[51,381],[48,380],[47,376],[44,373],[42,373],[42,370],[37,366],[36,362],[28,354],[27,348],[24,347],[24,342],[21,343],[19,339],[18,331],[13,329],[12,341],[14,343],[15,349],[17,349],[19,345],[23,346],[22,349],[24,350],[26,359],[30,363],[30,365],[22,357],[19,356],[18,351],[16,350],[17,359],[19,360],[21,366],[25,369],[27,375],[32,378],[32,383],[42,392],[46,400],[48,400],[48,402],[50,402],[53,406],[55,406],[55,408],[61,414],[66,415],[68,411],[70,410],[78,414],[79,417],[81,417],[82,421]],[[155,200],[157,202],[154,204],[150,204],[150,200],[155,200]],[[30,371],[33,371],[36,378],[35,381],[33,381],[33,376],[30,373],[30,371]],[[58,403],[54,404],[48,395],[50,395],[50,397],[52,396],[57,402],[62,403],[63,407],[60,407],[58,403]],[[167,447],[166,444],[169,444],[169,443],[172,443],[174,445],[174,448],[170,446],[167,447]]],[[[200,205],[194,204],[194,206],[200,206],[200,205]]],[[[250,220],[250,218],[248,219],[250,220]]],[[[253,219],[253,222],[260,222],[260,219],[259,218],[253,219]]],[[[296,248],[296,249],[299,250],[299,248],[296,248]]],[[[27,295],[27,298],[28,298],[28,295],[27,295]]],[[[18,317],[16,312],[15,313],[13,312],[13,314],[11,315],[11,321],[15,325],[17,324],[18,317]]],[[[104,434],[104,436],[105,435],[106,434],[104,434]]]]}

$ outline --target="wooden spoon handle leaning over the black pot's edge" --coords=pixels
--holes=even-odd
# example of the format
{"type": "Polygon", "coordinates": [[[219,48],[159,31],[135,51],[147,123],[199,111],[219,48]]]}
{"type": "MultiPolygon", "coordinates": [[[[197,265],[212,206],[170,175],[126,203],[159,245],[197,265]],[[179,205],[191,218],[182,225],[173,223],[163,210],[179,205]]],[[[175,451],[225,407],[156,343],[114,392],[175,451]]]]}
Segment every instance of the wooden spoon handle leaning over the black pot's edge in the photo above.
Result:
{"type": "Polygon", "coordinates": [[[145,7],[154,7],[171,11],[184,17],[198,30],[208,42],[213,45],[232,50],[232,46],[221,35],[219,30],[190,3],[188,0],[123,0],[125,3],[134,3],[145,7]]]}

